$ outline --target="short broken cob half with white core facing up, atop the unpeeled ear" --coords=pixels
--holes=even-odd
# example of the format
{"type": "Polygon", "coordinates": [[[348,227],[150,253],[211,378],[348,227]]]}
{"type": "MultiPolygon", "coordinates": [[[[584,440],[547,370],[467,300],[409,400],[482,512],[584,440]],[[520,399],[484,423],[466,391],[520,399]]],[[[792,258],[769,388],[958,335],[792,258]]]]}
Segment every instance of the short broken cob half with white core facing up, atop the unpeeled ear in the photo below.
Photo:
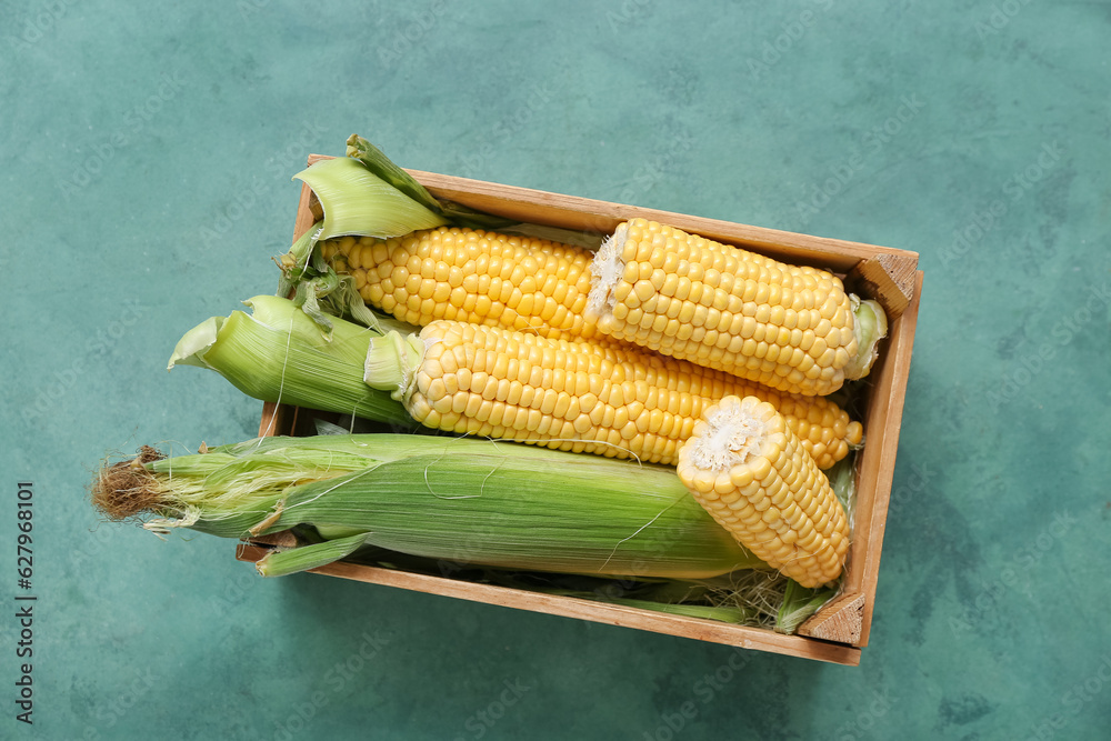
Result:
{"type": "Polygon", "coordinates": [[[837,579],[849,522],[790,424],[754,397],[705,411],[679,451],[680,480],[738,542],[803,587],[837,579]]]}

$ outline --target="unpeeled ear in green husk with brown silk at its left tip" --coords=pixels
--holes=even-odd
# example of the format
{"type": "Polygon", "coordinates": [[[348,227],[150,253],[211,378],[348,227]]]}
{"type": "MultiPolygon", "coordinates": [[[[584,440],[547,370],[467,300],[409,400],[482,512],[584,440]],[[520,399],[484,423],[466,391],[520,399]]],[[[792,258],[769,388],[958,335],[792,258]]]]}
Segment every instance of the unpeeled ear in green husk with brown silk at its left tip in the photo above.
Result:
{"type": "Polygon", "coordinates": [[[373,545],[488,567],[700,579],[765,568],[671,469],[487,440],[410,434],[264,438],[104,469],[110,519],[247,538],[311,525],[324,542],[260,563],[314,568],[373,545]],[[154,515],[154,519],[150,519],[154,515]],[[340,541],[343,542],[340,542],[340,541]]]}

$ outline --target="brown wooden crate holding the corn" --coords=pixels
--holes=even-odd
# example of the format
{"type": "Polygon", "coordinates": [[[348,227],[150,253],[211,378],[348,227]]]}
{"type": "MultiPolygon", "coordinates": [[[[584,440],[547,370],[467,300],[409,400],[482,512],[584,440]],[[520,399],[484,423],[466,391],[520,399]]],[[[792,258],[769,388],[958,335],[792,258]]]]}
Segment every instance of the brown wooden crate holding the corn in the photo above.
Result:
{"type": "MultiPolygon", "coordinates": [[[[320,159],[324,158],[312,156],[309,163],[320,159]]],[[[354,563],[332,563],[313,572],[805,659],[859,664],[872,621],[883,528],[918,318],[922,286],[922,273],[917,269],[918,254],[431,172],[410,172],[438,198],[521,221],[610,233],[627,219],[654,219],[785,262],[825,268],[844,277],[847,286],[858,293],[879,300],[888,311],[890,333],[881,346],[880,360],[869,375],[865,392],[862,422],[867,444],[857,462],[857,511],[844,589],[835,600],[803,623],[798,635],[782,635],[764,629],[354,563]]],[[[319,203],[306,186],[298,208],[294,238],[303,234],[319,218],[319,203]]],[[[259,434],[292,434],[298,429],[297,422],[297,409],[267,403],[259,434]]],[[[238,547],[237,558],[256,561],[270,545],[264,542],[242,543],[238,547]]]]}

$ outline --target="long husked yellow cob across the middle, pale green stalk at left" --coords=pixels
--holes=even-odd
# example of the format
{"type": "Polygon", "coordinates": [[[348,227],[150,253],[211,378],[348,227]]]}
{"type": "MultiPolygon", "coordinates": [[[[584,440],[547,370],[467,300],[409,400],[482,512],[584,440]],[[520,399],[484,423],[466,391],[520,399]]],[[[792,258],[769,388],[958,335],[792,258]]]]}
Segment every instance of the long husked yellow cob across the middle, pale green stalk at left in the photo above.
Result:
{"type": "Polygon", "coordinates": [[[860,423],[825,399],[639,348],[447,320],[372,339],[364,380],[391,390],[430,428],[668,465],[703,410],[729,394],[774,404],[822,467],[862,437],[860,423]]]}

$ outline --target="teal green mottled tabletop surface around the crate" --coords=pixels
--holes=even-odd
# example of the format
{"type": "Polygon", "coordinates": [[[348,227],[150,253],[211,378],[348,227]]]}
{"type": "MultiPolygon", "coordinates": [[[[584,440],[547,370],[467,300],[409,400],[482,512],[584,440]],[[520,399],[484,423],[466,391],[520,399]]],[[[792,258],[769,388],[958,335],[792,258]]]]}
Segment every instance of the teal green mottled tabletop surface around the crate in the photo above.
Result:
{"type": "Polygon", "coordinates": [[[0,735],[1108,738],[1108,38],[1107,2],[4,3],[0,735]],[[272,290],[289,177],[352,132],[406,167],[921,253],[860,668],[262,581],[229,542],[98,525],[107,451],[253,434],[258,402],[166,359],[272,290]]]}

